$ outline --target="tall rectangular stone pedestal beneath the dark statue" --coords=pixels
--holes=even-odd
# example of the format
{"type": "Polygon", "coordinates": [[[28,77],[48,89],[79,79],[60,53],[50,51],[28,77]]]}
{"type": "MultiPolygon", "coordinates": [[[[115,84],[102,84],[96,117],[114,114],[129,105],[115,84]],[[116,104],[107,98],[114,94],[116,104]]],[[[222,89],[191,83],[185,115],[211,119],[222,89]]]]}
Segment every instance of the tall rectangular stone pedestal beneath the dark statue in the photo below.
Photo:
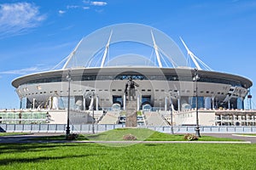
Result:
{"type": "Polygon", "coordinates": [[[137,101],[126,101],[125,127],[137,127],[137,101]]]}

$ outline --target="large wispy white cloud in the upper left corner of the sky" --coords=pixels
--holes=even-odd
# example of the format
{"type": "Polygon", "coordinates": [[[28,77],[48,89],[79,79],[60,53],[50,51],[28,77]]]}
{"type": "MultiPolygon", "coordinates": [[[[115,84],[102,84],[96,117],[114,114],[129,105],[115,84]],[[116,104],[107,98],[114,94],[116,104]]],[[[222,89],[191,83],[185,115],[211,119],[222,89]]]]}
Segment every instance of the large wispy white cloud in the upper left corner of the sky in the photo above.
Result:
{"type": "Polygon", "coordinates": [[[0,37],[21,34],[46,19],[32,3],[0,4],[0,37]]]}

